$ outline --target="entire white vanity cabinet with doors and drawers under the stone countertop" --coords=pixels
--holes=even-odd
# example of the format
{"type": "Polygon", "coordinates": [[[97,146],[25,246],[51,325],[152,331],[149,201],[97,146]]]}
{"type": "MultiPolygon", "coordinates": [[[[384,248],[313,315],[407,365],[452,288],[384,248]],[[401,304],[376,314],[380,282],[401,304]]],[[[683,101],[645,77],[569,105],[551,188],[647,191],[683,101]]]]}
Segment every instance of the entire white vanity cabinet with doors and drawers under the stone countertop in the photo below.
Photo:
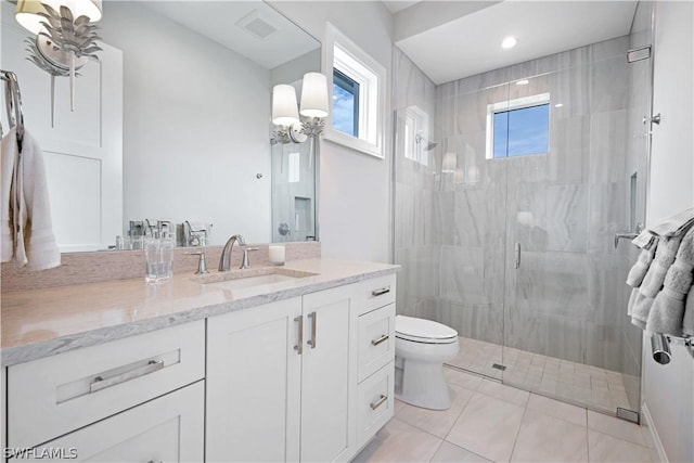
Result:
{"type": "Polygon", "coordinates": [[[31,450],[7,461],[349,461],[393,416],[395,283],[11,364],[2,437],[31,450]]]}

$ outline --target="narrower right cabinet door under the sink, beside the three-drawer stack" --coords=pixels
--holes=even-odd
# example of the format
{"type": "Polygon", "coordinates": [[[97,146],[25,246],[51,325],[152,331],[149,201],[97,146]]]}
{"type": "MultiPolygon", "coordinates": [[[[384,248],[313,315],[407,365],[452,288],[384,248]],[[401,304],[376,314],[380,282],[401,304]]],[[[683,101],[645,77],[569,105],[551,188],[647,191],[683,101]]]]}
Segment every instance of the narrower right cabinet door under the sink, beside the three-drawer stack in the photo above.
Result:
{"type": "MultiPolygon", "coordinates": [[[[301,461],[346,460],[354,447],[350,411],[350,310],[354,285],[304,296],[301,461]]],[[[354,400],[354,399],[352,399],[354,400]]]]}

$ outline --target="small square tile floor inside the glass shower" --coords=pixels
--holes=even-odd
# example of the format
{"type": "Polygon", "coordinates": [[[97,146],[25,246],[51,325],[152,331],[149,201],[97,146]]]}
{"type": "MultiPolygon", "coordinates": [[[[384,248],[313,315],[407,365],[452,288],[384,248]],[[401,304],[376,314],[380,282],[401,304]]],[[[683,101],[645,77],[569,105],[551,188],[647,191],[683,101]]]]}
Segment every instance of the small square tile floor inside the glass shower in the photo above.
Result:
{"type": "Polygon", "coordinates": [[[621,373],[527,352],[498,344],[459,337],[460,353],[448,362],[453,366],[501,380],[502,372],[492,368],[503,364],[503,382],[535,390],[592,409],[615,413],[617,407],[631,407],[621,373]],[[503,357],[503,358],[502,358],[503,357]]]}

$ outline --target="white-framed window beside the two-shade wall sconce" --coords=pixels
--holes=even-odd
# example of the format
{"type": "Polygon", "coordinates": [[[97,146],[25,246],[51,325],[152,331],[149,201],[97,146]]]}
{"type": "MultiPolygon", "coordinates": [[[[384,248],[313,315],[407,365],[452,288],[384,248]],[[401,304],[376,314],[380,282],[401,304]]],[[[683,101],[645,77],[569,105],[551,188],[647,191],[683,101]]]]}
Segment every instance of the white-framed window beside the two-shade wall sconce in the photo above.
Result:
{"type": "Polygon", "coordinates": [[[339,30],[327,25],[324,74],[332,78],[325,139],[384,157],[386,69],[339,30]]]}

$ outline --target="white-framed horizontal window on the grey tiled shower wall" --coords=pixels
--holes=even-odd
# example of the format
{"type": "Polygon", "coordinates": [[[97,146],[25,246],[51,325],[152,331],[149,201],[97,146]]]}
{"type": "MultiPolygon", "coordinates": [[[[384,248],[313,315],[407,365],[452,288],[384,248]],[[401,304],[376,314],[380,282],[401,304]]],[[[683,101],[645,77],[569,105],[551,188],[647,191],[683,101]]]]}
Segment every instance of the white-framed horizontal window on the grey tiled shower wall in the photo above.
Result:
{"type": "Polygon", "coordinates": [[[544,154],[550,143],[550,94],[487,106],[487,158],[544,154]]]}

